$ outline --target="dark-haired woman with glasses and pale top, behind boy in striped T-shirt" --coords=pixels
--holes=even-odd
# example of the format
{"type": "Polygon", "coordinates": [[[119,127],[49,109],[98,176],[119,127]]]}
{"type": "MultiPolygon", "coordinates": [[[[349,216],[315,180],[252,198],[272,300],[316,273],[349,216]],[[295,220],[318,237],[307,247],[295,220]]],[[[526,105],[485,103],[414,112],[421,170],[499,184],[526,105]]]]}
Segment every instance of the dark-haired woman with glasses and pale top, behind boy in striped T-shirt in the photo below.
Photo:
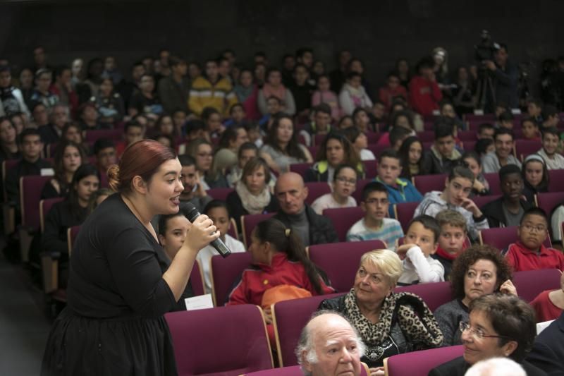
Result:
{"type": "Polygon", "coordinates": [[[357,180],[358,173],[353,166],[340,164],[335,169],[331,182],[332,192],[317,198],[312,204],[312,209],[321,215],[329,208],[357,206],[357,201],[351,196],[357,188],[357,180]]]}

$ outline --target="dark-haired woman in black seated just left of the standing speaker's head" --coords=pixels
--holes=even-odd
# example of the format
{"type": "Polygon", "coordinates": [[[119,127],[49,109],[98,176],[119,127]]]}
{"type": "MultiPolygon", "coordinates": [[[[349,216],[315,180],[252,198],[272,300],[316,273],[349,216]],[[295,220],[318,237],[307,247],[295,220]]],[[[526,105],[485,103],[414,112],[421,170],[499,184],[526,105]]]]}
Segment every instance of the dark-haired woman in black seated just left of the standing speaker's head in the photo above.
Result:
{"type": "Polygon", "coordinates": [[[43,252],[60,253],[59,281],[62,287],[68,279],[67,229],[82,224],[90,214],[90,198],[98,189],[99,181],[96,167],[82,164],[73,176],[67,198],[54,204],[45,218],[41,248],[43,252]]]}

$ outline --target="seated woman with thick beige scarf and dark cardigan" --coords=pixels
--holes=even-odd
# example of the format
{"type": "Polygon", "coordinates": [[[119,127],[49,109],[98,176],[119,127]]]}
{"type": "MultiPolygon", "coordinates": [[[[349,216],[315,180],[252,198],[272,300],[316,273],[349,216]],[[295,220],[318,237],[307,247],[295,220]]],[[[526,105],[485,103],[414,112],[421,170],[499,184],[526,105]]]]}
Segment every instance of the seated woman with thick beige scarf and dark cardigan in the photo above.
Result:
{"type": "Polygon", "coordinates": [[[229,214],[235,218],[237,228],[241,229],[241,216],[276,212],[278,200],[270,193],[269,166],[264,159],[251,159],[243,167],[241,180],[235,185],[235,192],[227,195],[229,214]]]}

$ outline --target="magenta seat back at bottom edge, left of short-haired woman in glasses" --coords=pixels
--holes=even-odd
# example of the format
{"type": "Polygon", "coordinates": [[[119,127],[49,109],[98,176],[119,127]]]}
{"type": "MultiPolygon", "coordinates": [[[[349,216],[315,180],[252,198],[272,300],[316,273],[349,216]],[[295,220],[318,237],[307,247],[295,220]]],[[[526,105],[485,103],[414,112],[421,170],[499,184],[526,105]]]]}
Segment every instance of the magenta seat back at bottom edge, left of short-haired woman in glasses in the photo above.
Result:
{"type": "Polygon", "coordinates": [[[427,376],[433,368],[458,358],[463,353],[464,346],[460,345],[398,354],[384,359],[384,372],[390,376],[427,376]]]}

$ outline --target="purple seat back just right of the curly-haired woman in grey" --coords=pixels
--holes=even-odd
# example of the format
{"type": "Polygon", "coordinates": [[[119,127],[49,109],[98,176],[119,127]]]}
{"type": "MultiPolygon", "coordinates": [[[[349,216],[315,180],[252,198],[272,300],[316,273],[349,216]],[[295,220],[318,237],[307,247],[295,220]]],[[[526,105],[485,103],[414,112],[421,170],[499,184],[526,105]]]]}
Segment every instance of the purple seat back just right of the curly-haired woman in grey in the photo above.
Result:
{"type": "Polygon", "coordinates": [[[533,301],[544,290],[560,289],[560,276],[558,269],[539,269],[515,272],[513,284],[517,294],[527,302],[533,301]]]}

